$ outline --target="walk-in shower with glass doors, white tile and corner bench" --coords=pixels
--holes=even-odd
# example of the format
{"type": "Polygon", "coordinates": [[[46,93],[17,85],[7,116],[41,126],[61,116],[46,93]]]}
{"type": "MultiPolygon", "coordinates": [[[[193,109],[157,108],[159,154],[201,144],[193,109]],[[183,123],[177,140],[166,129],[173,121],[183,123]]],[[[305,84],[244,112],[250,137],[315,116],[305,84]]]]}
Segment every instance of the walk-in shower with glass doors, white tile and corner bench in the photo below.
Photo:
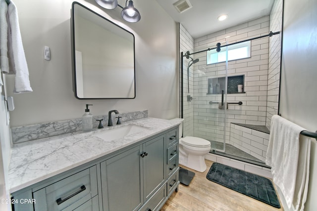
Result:
{"type": "Polygon", "coordinates": [[[279,40],[279,33],[269,32],[238,42],[201,46],[198,42],[196,48],[181,52],[183,136],[209,140],[211,153],[265,166],[269,117],[277,111],[272,111],[269,103],[268,42],[274,35],[279,40]],[[249,54],[230,59],[233,50],[244,47],[250,49],[249,54]],[[216,62],[209,61],[212,59],[216,62]]]}

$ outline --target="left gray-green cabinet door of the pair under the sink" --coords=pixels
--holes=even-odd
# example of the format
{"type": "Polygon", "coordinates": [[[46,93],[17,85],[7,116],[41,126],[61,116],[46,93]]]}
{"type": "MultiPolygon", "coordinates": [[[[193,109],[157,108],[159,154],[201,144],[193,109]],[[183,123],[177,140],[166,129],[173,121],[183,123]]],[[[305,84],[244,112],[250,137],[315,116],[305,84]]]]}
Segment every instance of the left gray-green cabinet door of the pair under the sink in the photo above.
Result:
{"type": "Polygon", "coordinates": [[[140,209],[143,203],[140,151],[141,146],[137,146],[101,163],[104,211],[140,209]]]}

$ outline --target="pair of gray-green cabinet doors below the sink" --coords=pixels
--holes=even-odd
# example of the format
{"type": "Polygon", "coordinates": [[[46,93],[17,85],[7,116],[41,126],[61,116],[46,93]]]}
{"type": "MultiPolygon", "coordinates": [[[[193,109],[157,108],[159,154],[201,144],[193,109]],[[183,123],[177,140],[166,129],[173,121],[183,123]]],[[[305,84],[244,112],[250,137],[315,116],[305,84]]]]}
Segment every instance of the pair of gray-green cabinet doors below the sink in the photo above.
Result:
{"type": "Polygon", "coordinates": [[[165,182],[164,148],[160,135],[101,163],[104,211],[136,211],[151,199],[165,182]]]}

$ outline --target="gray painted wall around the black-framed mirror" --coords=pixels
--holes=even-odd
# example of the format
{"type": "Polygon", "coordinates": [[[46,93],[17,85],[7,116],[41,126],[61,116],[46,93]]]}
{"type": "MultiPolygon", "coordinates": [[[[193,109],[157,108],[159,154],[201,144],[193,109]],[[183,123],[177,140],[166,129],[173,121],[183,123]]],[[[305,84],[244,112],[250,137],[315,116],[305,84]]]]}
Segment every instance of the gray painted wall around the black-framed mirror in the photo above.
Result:
{"type": "MultiPolygon", "coordinates": [[[[70,9],[72,0],[15,0],[33,92],[14,95],[16,108],[10,112],[11,127],[80,118],[85,104],[93,115],[149,110],[150,117],[178,116],[178,71],[176,70],[176,23],[155,0],[138,0],[134,5],[141,20],[122,20],[120,8],[102,10],[95,0],[79,2],[135,35],[136,98],[78,100],[72,91],[70,9]],[[155,9],[149,9],[155,8],[155,9]],[[153,24],[155,22],[155,24],[153,24]],[[51,47],[51,61],[43,58],[44,46],[51,47]]],[[[120,5],[125,0],[119,0],[120,5]]],[[[12,95],[14,76],[7,76],[12,95]]],[[[116,80],[116,79],[113,79],[116,80]]],[[[120,81],[118,80],[118,84],[120,81]]]]}

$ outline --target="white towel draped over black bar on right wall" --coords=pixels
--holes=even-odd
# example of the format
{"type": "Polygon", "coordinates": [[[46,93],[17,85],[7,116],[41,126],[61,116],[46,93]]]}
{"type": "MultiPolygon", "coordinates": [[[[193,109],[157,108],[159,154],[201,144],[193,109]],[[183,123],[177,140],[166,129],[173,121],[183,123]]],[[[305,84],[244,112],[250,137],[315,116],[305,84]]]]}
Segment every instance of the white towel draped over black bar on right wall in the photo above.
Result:
{"type": "Polygon", "coordinates": [[[289,209],[304,210],[307,198],[310,138],[305,128],[273,115],[265,164],[271,166],[274,183],[281,189],[289,209]]]}

